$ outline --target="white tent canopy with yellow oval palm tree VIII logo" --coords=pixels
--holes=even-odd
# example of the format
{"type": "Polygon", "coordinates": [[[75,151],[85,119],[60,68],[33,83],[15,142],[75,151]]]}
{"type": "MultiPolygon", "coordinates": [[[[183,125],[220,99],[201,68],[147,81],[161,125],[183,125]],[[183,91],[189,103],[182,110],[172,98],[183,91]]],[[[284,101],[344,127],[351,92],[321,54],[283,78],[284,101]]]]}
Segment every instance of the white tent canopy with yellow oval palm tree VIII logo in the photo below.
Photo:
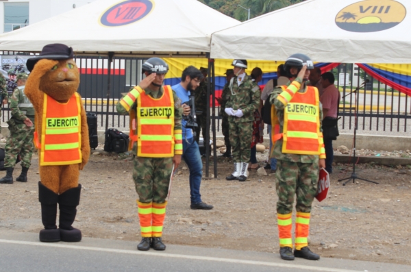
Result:
{"type": "Polygon", "coordinates": [[[212,34],[211,58],[411,63],[410,26],[410,0],[308,0],[212,34]]]}

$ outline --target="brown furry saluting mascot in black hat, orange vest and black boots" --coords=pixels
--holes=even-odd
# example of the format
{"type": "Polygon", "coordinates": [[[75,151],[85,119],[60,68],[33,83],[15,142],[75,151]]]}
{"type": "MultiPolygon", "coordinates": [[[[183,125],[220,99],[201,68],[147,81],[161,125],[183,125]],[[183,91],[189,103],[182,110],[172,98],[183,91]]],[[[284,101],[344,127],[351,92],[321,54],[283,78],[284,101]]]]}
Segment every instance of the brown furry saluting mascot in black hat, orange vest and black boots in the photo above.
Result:
{"type": "Polygon", "coordinates": [[[73,228],[79,205],[79,170],[90,156],[88,126],[82,99],[77,93],[79,70],[73,49],[46,45],[40,55],[27,60],[31,72],[25,95],[36,111],[34,143],[38,148],[40,182],[38,200],[45,230],[40,241],[79,242],[82,232],[73,228]],[[57,204],[59,229],[55,225],[57,204]]]}

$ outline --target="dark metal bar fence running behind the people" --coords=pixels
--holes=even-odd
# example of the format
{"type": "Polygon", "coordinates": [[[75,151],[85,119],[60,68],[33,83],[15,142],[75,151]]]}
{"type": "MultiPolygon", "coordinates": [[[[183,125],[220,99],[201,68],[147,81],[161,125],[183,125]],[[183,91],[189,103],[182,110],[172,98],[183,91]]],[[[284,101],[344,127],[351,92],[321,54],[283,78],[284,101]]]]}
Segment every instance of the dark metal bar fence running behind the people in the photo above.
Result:
{"type": "MultiPolygon", "coordinates": [[[[0,55],[12,54],[27,55],[29,53],[0,52],[0,55]]],[[[77,56],[75,61],[80,71],[78,92],[84,99],[86,111],[97,113],[99,129],[105,129],[107,119],[108,127],[127,131],[129,118],[116,112],[116,102],[122,96],[121,93],[127,92],[141,79],[139,67],[142,59],[114,56],[109,91],[108,56],[77,56]]],[[[402,135],[410,132],[411,99],[408,95],[401,94],[378,82],[355,64],[340,64],[333,69],[332,73],[336,76],[336,84],[341,91],[340,128],[351,131],[354,126],[354,117],[357,116],[359,133],[361,131],[368,133],[399,132],[402,135]],[[366,84],[364,84],[365,81],[366,84]]],[[[3,122],[9,118],[10,110],[8,106],[5,106],[3,122]]]]}

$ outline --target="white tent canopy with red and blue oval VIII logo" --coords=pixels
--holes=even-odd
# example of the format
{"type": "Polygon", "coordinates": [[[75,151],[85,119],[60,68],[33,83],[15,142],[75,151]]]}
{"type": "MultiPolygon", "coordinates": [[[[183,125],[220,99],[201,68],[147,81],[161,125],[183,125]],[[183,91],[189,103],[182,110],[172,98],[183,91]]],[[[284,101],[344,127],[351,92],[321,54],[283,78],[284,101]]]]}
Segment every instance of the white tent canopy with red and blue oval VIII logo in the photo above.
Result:
{"type": "Polygon", "coordinates": [[[193,0],[98,0],[1,35],[0,50],[58,42],[84,54],[193,57],[210,52],[213,32],[238,23],[193,0]]]}

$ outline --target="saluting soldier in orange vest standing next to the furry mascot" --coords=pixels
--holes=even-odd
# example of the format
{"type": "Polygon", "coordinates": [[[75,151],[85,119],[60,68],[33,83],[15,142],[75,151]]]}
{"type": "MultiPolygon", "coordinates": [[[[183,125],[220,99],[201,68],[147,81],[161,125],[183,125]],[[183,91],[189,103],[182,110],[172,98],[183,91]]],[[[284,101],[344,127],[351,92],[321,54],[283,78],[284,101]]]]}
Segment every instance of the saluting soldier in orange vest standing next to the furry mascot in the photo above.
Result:
{"type": "MultiPolygon", "coordinates": [[[[166,246],[162,243],[161,236],[164,217],[166,215],[166,199],[169,194],[171,174],[173,173],[173,169],[177,169],[182,160],[183,153],[183,110],[181,100],[175,95],[174,91],[172,91],[173,94],[169,98],[169,101],[164,101],[164,97],[168,97],[169,94],[167,90],[171,90],[170,86],[162,86],[164,76],[169,70],[166,62],[160,58],[149,58],[149,60],[142,65],[142,69],[145,71],[145,79],[142,79],[138,86],[132,88],[125,97],[120,99],[116,108],[119,114],[130,114],[130,119],[132,119],[130,138],[134,140],[133,154],[135,156],[133,180],[139,198],[137,201],[138,217],[140,218],[142,236],[142,240],[138,244],[137,249],[149,250],[150,247],[152,247],[155,250],[164,250],[166,246]],[[158,99],[159,102],[151,99],[151,97],[158,99]],[[171,111],[171,109],[164,107],[164,103],[170,104],[170,101],[173,101],[174,104],[173,132],[171,132],[172,129],[169,128],[171,126],[171,122],[168,122],[169,119],[164,119],[164,112],[166,110],[171,111]],[[138,108],[138,103],[141,103],[139,105],[145,106],[138,108]],[[147,103],[150,103],[151,106],[147,106],[147,103]],[[147,109],[146,113],[144,113],[145,109],[147,109]],[[136,112],[140,112],[141,117],[139,117],[138,114],[136,115],[136,112]],[[143,119],[142,116],[146,117],[143,119]],[[150,118],[147,118],[147,116],[150,118]],[[154,120],[153,123],[151,123],[150,119],[154,120]],[[142,135],[137,134],[139,120],[141,120],[142,135]],[[143,121],[145,123],[143,123],[143,121]],[[146,125],[144,129],[143,124],[146,125]],[[147,125],[150,129],[147,129],[147,125]],[[166,133],[165,135],[164,132],[166,133]],[[166,138],[166,140],[159,140],[158,138],[166,138]],[[155,146],[154,141],[156,140],[162,147],[171,145],[172,141],[175,143],[173,151],[167,151],[161,147],[151,149],[147,146],[150,141],[153,141],[151,147],[155,146]],[[137,147],[137,142],[139,147],[137,147]],[[142,149],[143,146],[145,147],[144,150],[142,149]]],[[[166,116],[169,118],[171,115],[166,116]]]]}

